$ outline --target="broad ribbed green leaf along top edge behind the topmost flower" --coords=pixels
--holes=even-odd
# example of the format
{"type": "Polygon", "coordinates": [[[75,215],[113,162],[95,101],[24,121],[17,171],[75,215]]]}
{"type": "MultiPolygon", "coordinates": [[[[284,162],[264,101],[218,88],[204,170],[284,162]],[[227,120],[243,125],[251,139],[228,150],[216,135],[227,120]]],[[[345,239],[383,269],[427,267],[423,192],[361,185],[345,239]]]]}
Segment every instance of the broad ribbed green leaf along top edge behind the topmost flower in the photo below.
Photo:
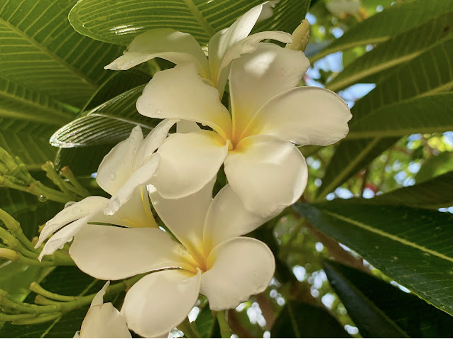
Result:
{"type": "MultiPolygon", "coordinates": [[[[77,32],[107,43],[128,45],[133,38],[154,28],[173,28],[192,34],[201,44],[234,23],[236,18],[262,0],[82,0],[69,15],[77,32]]],[[[293,33],[305,17],[310,1],[282,0],[271,20],[258,24],[258,30],[284,30],[293,33]]]]}

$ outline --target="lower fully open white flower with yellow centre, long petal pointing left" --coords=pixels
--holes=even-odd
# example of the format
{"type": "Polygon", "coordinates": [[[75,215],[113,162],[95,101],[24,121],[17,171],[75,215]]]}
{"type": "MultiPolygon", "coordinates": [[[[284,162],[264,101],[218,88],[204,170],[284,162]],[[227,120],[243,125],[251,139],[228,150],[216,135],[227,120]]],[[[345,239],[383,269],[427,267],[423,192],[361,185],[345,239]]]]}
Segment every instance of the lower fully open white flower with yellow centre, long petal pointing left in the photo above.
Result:
{"type": "Polygon", "coordinates": [[[196,194],[163,199],[150,194],[158,215],[180,243],[158,228],[88,225],[74,237],[70,256],[97,279],[151,272],[127,292],[121,315],[145,337],[164,335],[204,294],[214,311],[231,309],[264,291],[274,257],[259,240],[242,237],[268,218],[246,209],[228,185],[212,199],[214,180],[196,194]]]}

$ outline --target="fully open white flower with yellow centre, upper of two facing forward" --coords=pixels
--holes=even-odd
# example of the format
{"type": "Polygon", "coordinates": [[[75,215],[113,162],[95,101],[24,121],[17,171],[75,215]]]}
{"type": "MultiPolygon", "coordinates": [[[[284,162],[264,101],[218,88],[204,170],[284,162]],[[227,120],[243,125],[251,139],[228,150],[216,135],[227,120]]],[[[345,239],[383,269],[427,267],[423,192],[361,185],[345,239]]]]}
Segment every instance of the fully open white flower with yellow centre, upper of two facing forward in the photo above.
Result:
{"type": "Polygon", "coordinates": [[[335,143],[348,133],[351,118],[334,92],[295,87],[309,65],[303,52],[270,43],[234,60],[231,116],[192,65],[156,73],[137,101],[139,113],[212,128],[175,133],[160,146],[160,170],[153,179],[159,194],[167,199],[193,194],[224,163],[231,189],[250,211],[275,214],[297,201],[307,165],[293,143],[335,143]]]}

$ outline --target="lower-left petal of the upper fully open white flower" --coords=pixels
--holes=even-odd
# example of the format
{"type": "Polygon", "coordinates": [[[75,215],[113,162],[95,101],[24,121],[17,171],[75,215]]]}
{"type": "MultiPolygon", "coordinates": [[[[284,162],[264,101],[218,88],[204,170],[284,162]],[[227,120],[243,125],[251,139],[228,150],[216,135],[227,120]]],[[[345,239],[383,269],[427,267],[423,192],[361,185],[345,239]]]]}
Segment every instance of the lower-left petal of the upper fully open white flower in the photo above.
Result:
{"type": "Polygon", "coordinates": [[[217,175],[228,145],[210,130],[170,135],[158,150],[160,165],[153,186],[165,199],[200,191],[217,175]]]}

